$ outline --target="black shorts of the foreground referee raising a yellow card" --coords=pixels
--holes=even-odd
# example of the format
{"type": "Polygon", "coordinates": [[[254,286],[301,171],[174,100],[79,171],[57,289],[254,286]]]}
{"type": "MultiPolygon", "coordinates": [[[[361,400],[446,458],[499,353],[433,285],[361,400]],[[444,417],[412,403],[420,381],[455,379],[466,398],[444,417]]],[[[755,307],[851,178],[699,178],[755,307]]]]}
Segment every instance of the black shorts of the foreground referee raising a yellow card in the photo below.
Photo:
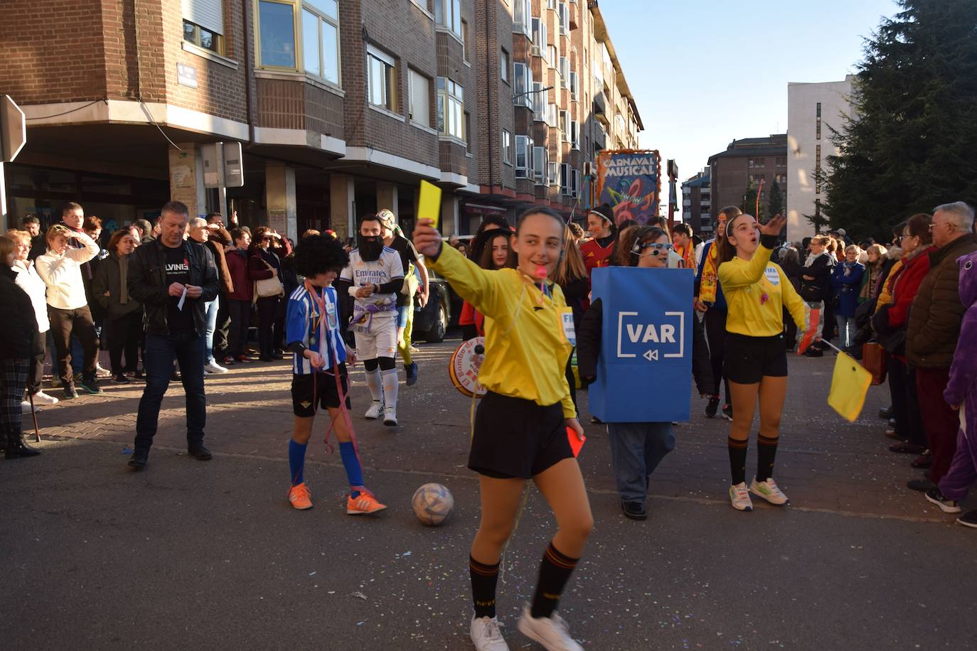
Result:
{"type": "Polygon", "coordinates": [[[480,401],[468,468],[496,479],[531,479],[571,458],[559,402],[540,407],[531,400],[491,391],[480,401]]]}

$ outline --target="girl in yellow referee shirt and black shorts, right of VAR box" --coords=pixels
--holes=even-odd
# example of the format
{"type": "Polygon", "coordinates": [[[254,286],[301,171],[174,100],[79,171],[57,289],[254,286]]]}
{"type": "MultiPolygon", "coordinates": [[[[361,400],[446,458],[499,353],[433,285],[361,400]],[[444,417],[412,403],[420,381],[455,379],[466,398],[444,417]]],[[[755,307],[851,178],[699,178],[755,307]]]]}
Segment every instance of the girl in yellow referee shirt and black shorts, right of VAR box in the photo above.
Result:
{"type": "Polygon", "coordinates": [[[733,475],[730,501],[738,510],[753,509],[749,493],[773,505],[789,504],[771,477],[787,392],[783,307],[786,306],[798,328],[805,330],[807,326],[804,301],[784,270],[770,262],[785,222],[782,215],[762,226],[751,215],[730,220],[726,224],[726,237],[735,255],[728,253],[729,259],[719,264],[719,283],[729,305],[725,371],[735,405],[727,441],[733,475]],[[757,468],[747,492],[746,447],[757,397],[760,400],[757,468]]]}

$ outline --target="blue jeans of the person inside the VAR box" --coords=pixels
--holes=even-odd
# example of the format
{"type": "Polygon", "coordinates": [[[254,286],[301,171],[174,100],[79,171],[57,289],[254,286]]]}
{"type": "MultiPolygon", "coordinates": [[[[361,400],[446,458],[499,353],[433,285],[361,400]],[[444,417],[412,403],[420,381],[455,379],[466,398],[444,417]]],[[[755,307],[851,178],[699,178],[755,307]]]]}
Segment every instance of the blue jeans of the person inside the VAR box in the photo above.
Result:
{"type": "Polygon", "coordinates": [[[623,502],[645,502],[648,477],[675,448],[671,423],[609,423],[611,461],[623,502]]]}

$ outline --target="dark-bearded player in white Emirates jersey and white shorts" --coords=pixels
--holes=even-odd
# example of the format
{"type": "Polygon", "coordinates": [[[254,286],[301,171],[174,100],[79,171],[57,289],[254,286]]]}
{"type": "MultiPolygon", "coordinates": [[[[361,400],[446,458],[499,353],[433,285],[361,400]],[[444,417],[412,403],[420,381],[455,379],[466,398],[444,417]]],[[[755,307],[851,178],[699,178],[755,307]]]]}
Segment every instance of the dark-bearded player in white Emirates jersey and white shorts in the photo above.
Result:
{"type": "Polygon", "coordinates": [[[383,224],[376,215],[360,220],[357,249],[339,276],[354,301],[350,329],[357,356],[366,370],[366,386],[373,404],[366,418],[383,416],[386,426],[397,425],[397,294],[404,286],[401,256],[383,245],[383,224]]]}

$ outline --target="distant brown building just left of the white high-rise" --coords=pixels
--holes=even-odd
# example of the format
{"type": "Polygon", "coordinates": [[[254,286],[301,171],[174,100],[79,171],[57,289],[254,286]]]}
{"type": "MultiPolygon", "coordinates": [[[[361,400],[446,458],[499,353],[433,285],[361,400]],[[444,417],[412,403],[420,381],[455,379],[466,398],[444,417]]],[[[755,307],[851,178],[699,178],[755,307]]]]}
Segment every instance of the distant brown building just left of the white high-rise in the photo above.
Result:
{"type": "Polygon", "coordinates": [[[740,206],[749,214],[755,211],[754,208],[743,208],[743,197],[750,181],[757,187],[763,181],[760,204],[766,211],[770,188],[775,181],[781,186],[783,196],[787,193],[787,136],[773,134],[767,138],[730,142],[725,151],[709,156],[708,165],[713,224],[725,206],[740,206]]]}

